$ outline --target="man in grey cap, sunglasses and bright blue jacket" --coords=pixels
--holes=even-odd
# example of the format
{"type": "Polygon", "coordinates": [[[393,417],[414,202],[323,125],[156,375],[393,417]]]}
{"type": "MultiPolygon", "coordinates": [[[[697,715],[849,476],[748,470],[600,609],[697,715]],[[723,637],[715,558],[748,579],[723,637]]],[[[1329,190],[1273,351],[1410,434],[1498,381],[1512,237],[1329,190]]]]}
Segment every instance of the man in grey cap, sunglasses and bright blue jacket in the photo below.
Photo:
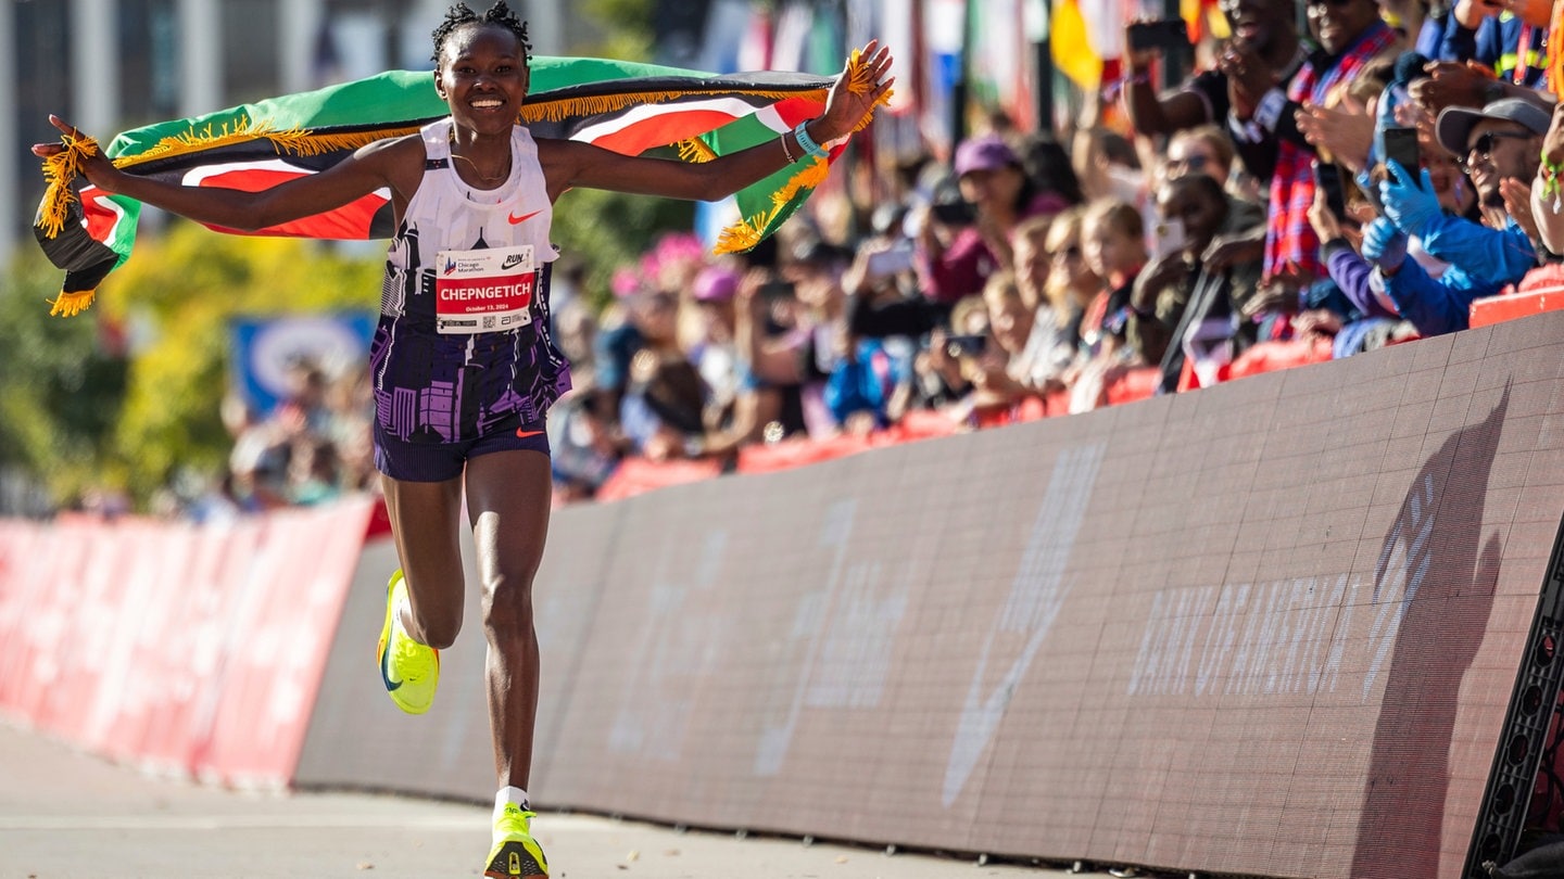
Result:
{"type": "Polygon", "coordinates": [[[1503,185],[1523,186],[1536,177],[1547,130],[1548,113],[1526,99],[1501,99],[1483,109],[1451,106],[1439,114],[1434,135],[1445,150],[1464,156],[1461,167],[1476,188],[1483,224],[1447,214],[1428,170],[1414,177],[1400,163],[1389,163],[1389,180],[1379,183],[1384,216],[1368,224],[1362,253],[1376,267],[1376,283],[1422,335],[1467,328],[1473,299],[1494,296],[1536,267],[1537,250],[1506,210],[1503,185]],[[1450,263],[1437,280],[1406,258],[1411,235],[1429,255],[1450,263]]]}

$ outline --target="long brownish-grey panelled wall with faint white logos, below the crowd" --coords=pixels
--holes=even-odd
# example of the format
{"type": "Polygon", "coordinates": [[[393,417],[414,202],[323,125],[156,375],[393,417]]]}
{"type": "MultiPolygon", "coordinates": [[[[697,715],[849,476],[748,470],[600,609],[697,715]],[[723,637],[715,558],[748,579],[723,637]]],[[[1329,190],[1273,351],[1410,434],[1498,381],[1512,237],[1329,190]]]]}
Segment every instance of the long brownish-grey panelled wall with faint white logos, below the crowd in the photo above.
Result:
{"type": "MultiPolygon", "coordinates": [[[[1544,314],[560,510],[535,799],[1179,871],[1456,877],[1564,516],[1561,372],[1564,314],[1544,314]]],[[[486,796],[368,757],[405,726],[364,719],[385,698],[360,660],[347,687],[333,654],[322,699],[346,702],[311,726],[300,782],[486,796]]],[[[447,690],[482,680],[441,688],[468,710],[447,690]]],[[[474,723],[439,715],[419,723],[474,723]]],[[[463,760],[482,774],[488,754],[463,760]]]]}

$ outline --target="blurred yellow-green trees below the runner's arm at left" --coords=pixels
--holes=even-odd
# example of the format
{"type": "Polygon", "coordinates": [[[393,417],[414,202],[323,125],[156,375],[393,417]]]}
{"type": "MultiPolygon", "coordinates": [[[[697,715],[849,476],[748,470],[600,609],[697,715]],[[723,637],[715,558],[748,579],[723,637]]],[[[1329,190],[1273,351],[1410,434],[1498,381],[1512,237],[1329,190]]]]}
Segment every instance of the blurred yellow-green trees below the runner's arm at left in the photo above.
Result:
{"type": "Polygon", "coordinates": [[[222,471],[231,436],[228,319],[375,311],[383,244],[343,255],[322,242],[214,235],[177,224],[141,241],[78,318],[48,318],[59,272],[36,252],[0,297],[0,465],[67,502],[89,486],[138,505],[180,468],[222,471]],[[130,357],[100,344],[131,336],[130,357]]]}

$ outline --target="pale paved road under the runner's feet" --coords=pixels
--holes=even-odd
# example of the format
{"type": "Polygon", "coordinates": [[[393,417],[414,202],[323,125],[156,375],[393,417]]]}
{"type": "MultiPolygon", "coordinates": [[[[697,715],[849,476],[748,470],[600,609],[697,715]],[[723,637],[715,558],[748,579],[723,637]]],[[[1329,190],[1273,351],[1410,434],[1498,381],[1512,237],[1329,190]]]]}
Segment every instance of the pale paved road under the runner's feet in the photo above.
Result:
{"type": "MultiPolygon", "coordinates": [[[[533,827],[555,879],[1070,876],[585,815],[544,813],[533,827]]],[[[0,723],[0,879],[429,879],[477,876],[486,849],[480,805],[216,790],[149,777],[0,723]]]]}

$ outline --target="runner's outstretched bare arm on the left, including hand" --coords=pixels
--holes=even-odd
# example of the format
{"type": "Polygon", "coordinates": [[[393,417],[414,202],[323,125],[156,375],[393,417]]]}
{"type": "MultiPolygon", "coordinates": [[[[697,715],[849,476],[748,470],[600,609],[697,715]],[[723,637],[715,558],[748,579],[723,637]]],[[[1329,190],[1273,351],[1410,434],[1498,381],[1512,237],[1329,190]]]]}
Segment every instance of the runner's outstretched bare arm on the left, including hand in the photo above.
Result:
{"type": "MultiPolygon", "coordinates": [[[[50,116],[48,120],[67,141],[84,139],[74,125],[58,116],[50,116]]],[[[33,155],[47,160],[66,149],[61,144],[33,144],[33,155]]],[[[310,174],[260,192],[219,186],[180,186],[127,174],[114,167],[95,145],[91,155],[83,156],[81,172],[94,186],[108,192],[119,192],[197,222],[255,231],[339,208],[386,186],[396,192],[400,208],[418,186],[422,155],[422,144],[416,136],[375,141],[321,174],[310,174]],[[410,150],[416,152],[411,160],[404,155],[410,150]],[[411,169],[411,177],[407,172],[399,175],[399,167],[411,169]]]]}

